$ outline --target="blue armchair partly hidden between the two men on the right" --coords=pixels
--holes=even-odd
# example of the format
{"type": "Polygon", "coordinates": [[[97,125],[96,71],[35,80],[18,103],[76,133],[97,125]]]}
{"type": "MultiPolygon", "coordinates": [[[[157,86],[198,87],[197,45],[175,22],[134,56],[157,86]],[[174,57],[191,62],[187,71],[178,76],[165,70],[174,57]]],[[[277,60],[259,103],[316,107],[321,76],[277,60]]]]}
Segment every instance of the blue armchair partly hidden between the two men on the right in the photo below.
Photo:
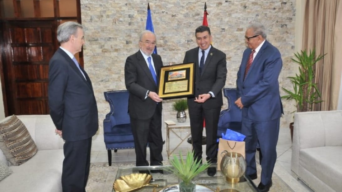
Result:
{"type": "Polygon", "coordinates": [[[237,99],[236,88],[223,88],[223,95],[228,100],[228,109],[222,110],[220,113],[217,137],[222,138],[227,128],[241,133],[242,110],[237,107],[234,102],[237,99]]]}

